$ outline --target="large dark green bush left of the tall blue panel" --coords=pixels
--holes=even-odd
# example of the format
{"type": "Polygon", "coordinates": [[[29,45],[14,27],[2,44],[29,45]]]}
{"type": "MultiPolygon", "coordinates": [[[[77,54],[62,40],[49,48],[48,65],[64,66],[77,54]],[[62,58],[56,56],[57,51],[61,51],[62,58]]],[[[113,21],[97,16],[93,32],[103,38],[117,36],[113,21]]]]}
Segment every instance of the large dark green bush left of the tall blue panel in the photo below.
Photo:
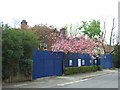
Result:
{"type": "Polygon", "coordinates": [[[31,31],[7,28],[2,33],[2,44],[2,78],[10,79],[11,82],[18,73],[19,61],[31,58],[32,50],[38,48],[39,43],[31,31]]]}

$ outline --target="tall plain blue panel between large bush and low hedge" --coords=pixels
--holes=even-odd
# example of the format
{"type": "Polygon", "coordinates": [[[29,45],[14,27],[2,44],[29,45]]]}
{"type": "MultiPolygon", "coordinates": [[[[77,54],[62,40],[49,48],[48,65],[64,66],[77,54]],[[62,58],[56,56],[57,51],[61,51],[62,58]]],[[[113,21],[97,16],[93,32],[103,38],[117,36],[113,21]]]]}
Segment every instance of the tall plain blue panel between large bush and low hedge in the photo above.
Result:
{"type": "Polygon", "coordinates": [[[32,79],[62,75],[62,52],[33,50],[32,79]]]}

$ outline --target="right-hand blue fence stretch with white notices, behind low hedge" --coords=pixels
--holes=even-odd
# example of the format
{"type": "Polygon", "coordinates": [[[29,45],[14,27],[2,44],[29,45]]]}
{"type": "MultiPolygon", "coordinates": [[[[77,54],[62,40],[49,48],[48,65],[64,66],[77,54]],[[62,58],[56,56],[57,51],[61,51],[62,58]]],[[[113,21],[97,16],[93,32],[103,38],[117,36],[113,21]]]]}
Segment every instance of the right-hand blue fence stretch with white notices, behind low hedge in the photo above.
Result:
{"type": "Polygon", "coordinates": [[[81,66],[90,66],[90,65],[101,65],[103,69],[106,68],[112,68],[112,55],[111,54],[103,54],[100,55],[100,58],[98,60],[92,60],[91,56],[88,54],[66,54],[66,60],[65,60],[65,67],[70,67],[69,66],[69,60],[73,60],[73,67],[78,66],[78,59],[81,59],[81,66]],[[83,60],[85,60],[85,64],[83,65],[83,60]],[[90,60],[92,60],[93,63],[90,63],[90,60]]]}

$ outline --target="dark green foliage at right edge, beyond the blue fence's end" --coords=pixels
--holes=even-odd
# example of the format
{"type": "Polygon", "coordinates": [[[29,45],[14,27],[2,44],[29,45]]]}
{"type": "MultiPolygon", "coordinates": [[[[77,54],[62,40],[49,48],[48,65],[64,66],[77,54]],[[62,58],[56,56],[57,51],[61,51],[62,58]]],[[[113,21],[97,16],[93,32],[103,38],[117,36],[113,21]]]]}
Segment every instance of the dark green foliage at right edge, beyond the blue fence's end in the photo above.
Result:
{"type": "Polygon", "coordinates": [[[114,53],[113,53],[113,66],[116,68],[120,68],[120,45],[115,47],[114,53]]]}

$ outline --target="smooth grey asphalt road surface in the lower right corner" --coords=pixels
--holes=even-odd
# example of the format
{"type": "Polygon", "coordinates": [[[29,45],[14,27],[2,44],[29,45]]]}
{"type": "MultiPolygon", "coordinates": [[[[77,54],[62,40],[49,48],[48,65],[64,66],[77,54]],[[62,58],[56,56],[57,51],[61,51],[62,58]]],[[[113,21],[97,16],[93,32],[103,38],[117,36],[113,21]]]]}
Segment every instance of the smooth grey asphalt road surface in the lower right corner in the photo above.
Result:
{"type": "Polygon", "coordinates": [[[118,88],[118,73],[63,83],[53,88],[118,88]]]}

